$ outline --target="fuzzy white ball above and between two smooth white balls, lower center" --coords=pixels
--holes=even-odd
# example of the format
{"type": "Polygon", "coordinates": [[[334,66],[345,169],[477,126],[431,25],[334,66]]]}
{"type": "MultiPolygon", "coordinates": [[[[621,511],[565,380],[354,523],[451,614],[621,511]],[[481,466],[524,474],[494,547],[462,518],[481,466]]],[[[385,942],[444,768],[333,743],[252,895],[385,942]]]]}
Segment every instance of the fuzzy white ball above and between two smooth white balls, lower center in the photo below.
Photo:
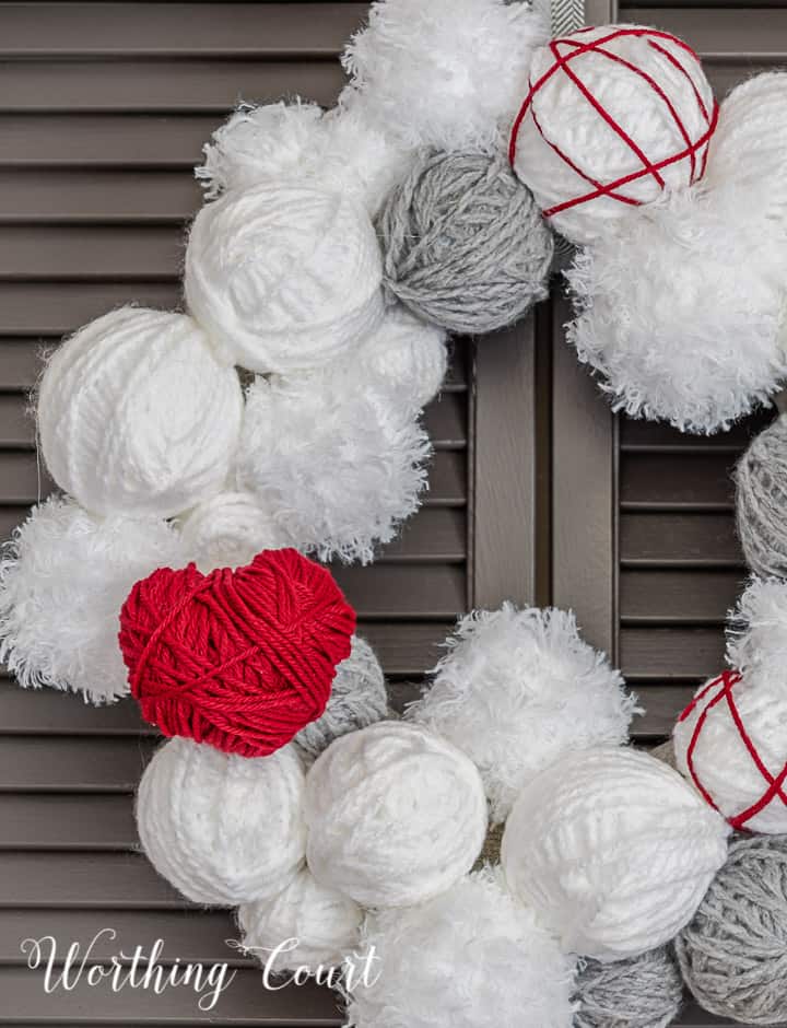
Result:
{"type": "Polygon", "coordinates": [[[576,749],[627,741],[636,700],[563,610],[463,618],[434,682],[408,716],[463,750],[503,821],[522,786],[576,749]]]}

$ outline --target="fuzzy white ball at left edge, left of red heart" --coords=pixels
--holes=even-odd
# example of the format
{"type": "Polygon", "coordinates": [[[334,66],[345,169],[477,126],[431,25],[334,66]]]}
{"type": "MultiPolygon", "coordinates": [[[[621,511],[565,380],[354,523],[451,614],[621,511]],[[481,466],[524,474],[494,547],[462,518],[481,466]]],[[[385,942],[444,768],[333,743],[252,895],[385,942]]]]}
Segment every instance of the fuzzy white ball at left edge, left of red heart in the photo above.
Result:
{"type": "Polygon", "coordinates": [[[129,691],[117,635],[131,586],[181,566],[177,533],[155,517],[98,518],[50,498],[0,559],[0,661],[21,686],[71,689],[94,703],[129,691]]]}

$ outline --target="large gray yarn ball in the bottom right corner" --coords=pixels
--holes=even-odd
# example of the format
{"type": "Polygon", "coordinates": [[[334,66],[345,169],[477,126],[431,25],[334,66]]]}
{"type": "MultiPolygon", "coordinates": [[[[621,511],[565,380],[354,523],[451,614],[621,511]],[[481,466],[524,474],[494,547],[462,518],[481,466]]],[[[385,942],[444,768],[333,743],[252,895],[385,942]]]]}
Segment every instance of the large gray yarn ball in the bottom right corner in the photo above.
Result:
{"type": "Polygon", "coordinates": [[[706,1011],[747,1025],[787,1021],[787,836],[733,842],[674,945],[706,1011]]]}

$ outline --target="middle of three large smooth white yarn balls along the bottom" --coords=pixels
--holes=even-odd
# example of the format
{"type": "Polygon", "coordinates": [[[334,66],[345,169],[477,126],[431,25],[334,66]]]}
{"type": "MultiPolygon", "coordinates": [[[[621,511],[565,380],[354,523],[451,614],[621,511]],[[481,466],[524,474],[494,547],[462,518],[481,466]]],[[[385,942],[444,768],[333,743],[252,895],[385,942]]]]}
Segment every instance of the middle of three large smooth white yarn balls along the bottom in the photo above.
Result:
{"type": "Polygon", "coordinates": [[[470,760],[418,725],[379,722],[332,743],[307,775],[307,860],[364,907],[408,907],[472,867],[486,799],[470,760]]]}

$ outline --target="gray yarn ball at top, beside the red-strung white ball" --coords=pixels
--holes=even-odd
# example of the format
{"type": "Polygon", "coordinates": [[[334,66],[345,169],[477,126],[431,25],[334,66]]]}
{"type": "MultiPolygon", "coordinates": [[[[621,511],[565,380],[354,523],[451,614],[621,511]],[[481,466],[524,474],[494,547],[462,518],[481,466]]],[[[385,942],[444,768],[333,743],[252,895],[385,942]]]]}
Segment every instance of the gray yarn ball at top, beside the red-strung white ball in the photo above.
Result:
{"type": "Polygon", "coordinates": [[[378,229],[388,291],[449,331],[503,328],[547,295],[552,232],[502,157],[424,154],[378,229]]]}

